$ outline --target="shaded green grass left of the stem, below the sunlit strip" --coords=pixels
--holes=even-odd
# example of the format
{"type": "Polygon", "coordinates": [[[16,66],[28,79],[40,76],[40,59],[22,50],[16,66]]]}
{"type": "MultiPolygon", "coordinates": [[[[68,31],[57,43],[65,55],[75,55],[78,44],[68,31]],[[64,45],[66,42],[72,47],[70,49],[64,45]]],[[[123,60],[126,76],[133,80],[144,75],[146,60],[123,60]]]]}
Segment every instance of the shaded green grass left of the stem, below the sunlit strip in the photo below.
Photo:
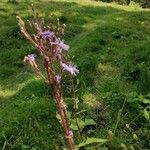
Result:
{"type": "Polygon", "coordinates": [[[12,97],[1,100],[1,148],[6,140],[5,149],[14,150],[55,149],[64,144],[55,104],[46,89],[40,82],[31,82],[12,97]]]}

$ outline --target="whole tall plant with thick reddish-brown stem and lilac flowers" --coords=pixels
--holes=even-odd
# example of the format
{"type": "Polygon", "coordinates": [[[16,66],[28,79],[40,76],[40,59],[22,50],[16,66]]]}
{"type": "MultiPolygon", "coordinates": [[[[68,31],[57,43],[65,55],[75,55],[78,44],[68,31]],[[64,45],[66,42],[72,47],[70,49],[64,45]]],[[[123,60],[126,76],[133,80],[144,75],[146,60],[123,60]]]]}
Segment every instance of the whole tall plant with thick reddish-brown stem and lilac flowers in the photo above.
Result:
{"type": "Polygon", "coordinates": [[[44,20],[40,19],[33,5],[32,11],[34,14],[33,20],[27,20],[29,28],[26,27],[26,24],[19,16],[17,16],[17,19],[22,34],[36,47],[42,56],[47,78],[40,72],[36,63],[36,54],[25,56],[24,62],[28,62],[42,78],[46,79],[49,86],[53,88],[54,99],[64,128],[65,137],[70,150],[74,150],[73,132],[68,123],[67,108],[62,95],[61,84],[63,73],[67,72],[71,76],[76,76],[79,70],[76,65],[68,60],[67,52],[70,47],[61,39],[64,34],[65,24],[61,25],[59,19],[57,19],[56,26],[52,23],[45,26],[44,20]],[[33,33],[29,32],[29,29],[32,30],[33,33]]]}

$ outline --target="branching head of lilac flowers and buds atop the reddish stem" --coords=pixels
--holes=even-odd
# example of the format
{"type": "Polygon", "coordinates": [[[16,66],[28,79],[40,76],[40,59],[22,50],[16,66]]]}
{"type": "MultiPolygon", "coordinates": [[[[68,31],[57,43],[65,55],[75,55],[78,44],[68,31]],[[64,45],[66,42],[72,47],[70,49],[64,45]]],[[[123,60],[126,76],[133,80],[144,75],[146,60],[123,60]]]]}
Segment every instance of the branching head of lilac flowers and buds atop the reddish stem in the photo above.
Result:
{"type": "MultiPolygon", "coordinates": [[[[30,26],[36,29],[36,33],[31,36],[31,34],[29,34],[27,29],[25,28],[25,23],[22,21],[22,19],[20,17],[17,18],[19,21],[21,32],[31,43],[33,43],[37,47],[41,55],[46,60],[56,60],[58,64],[61,64],[60,67],[62,67],[62,70],[67,71],[71,75],[75,76],[79,73],[76,65],[66,60],[65,55],[70,47],[69,45],[65,44],[63,39],[60,39],[59,33],[57,31],[51,31],[50,29],[43,30],[44,27],[40,26],[37,22],[33,23],[33,21],[31,21],[30,26]],[[33,23],[33,25],[31,25],[31,23],[33,23]],[[63,62],[68,63],[65,64],[63,62]]],[[[64,26],[61,27],[61,31],[63,30],[63,27],[64,26]]],[[[26,56],[24,60],[29,61],[32,66],[37,67],[35,63],[35,57],[35,54],[30,54],[26,56]]]]}

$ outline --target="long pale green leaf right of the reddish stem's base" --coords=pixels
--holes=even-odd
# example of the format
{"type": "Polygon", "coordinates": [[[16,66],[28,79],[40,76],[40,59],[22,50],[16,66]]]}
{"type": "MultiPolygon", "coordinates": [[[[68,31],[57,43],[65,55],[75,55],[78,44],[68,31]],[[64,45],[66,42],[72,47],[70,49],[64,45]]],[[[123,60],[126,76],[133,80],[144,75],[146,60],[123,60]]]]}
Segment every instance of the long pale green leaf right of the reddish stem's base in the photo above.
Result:
{"type": "Polygon", "coordinates": [[[87,138],[86,141],[77,145],[77,148],[84,147],[86,145],[93,144],[93,143],[104,144],[107,141],[108,141],[107,139],[101,139],[101,138],[87,138]]]}

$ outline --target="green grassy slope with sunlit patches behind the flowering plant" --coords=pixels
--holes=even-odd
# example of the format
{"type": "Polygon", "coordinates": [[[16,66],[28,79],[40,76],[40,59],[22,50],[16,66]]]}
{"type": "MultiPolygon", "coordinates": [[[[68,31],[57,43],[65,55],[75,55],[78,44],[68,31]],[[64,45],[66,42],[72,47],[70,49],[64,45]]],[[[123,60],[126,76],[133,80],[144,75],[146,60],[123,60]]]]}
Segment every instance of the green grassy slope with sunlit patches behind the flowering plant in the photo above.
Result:
{"type": "MultiPolygon", "coordinates": [[[[92,133],[105,137],[107,129],[114,128],[124,95],[150,91],[149,73],[147,79],[143,74],[150,66],[150,12],[138,6],[88,0],[33,3],[43,16],[52,12],[67,25],[65,39],[80,68],[78,94],[91,111],[94,99],[108,108],[106,118],[100,118],[104,123],[100,121],[92,133]]],[[[17,5],[0,2],[0,145],[9,140],[6,149],[60,149],[64,141],[49,91],[22,63],[24,55],[35,49],[19,33],[18,14],[26,19],[31,15],[29,1],[17,5]]],[[[131,111],[121,118],[119,127],[131,122],[134,115],[131,111]]],[[[117,142],[132,143],[130,136],[117,130],[117,142]]],[[[139,147],[147,147],[144,140],[139,147]]]]}

